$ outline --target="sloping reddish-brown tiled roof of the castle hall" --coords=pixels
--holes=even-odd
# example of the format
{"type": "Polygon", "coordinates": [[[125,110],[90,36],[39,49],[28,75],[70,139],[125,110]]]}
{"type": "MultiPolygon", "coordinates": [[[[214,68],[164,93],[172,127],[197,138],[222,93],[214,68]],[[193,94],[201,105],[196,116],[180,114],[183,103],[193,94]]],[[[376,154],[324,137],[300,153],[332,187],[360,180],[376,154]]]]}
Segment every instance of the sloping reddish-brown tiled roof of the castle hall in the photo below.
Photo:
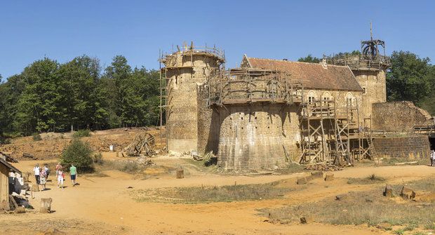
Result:
{"type": "Polygon", "coordinates": [[[248,57],[246,60],[250,67],[288,72],[291,79],[301,81],[304,88],[363,91],[347,66],[248,57]]]}

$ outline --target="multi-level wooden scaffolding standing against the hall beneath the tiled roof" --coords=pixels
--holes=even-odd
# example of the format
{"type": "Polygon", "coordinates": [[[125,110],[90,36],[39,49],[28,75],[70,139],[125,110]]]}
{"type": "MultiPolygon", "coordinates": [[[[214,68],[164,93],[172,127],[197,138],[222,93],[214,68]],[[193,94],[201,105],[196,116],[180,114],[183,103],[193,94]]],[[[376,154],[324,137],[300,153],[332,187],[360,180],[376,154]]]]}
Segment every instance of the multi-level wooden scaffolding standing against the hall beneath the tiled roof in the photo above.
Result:
{"type": "Polygon", "coordinates": [[[341,164],[361,158],[361,129],[356,101],[337,107],[335,100],[309,100],[301,105],[300,163],[341,164]]]}

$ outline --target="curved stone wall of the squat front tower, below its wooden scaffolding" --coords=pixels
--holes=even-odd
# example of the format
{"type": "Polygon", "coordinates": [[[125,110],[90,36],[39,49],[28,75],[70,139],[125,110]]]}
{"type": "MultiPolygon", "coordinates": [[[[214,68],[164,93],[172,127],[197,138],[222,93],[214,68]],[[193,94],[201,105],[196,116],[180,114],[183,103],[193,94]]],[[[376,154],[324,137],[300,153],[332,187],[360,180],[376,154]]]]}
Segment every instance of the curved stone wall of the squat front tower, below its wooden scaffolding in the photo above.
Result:
{"type": "Polygon", "coordinates": [[[219,108],[218,164],[227,170],[272,169],[283,166],[298,119],[286,105],[232,105],[219,108]],[[294,115],[293,115],[294,117],[294,115]],[[286,149],[286,150],[284,150],[286,149]]]}

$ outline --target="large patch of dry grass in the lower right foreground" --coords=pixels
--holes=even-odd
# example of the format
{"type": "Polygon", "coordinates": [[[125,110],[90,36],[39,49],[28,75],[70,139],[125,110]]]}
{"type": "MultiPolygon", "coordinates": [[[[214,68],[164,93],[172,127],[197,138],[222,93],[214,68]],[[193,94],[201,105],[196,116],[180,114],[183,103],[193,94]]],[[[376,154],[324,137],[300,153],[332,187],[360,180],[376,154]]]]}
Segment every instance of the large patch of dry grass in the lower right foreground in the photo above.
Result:
{"type": "MultiPolygon", "coordinates": [[[[364,183],[370,179],[365,179],[364,183]]],[[[408,184],[413,189],[432,189],[434,178],[408,184]]],[[[396,203],[382,196],[382,188],[370,192],[349,192],[347,197],[336,201],[333,198],[314,203],[286,206],[276,209],[262,209],[272,221],[299,222],[300,217],[314,217],[316,222],[327,224],[381,224],[406,225],[403,231],[411,231],[418,225],[431,229],[435,222],[434,203],[406,201],[396,203]]],[[[394,187],[399,195],[400,186],[394,187]]],[[[432,191],[433,192],[433,191],[432,191]]],[[[401,232],[401,231],[397,231],[401,232]]]]}

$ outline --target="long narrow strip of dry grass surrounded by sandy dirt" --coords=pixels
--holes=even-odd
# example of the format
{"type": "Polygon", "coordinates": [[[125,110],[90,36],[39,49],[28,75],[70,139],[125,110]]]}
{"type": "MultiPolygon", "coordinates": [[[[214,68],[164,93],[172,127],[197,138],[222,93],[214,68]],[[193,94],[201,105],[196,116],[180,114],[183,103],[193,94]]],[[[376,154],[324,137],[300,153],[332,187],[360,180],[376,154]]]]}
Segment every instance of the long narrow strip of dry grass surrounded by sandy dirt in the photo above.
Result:
{"type": "Polygon", "coordinates": [[[166,203],[212,203],[274,199],[290,192],[288,187],[269,184],[234,184],[222,187],[179,187],[136,190],[132,194],[137,201],[166,203]]]}

